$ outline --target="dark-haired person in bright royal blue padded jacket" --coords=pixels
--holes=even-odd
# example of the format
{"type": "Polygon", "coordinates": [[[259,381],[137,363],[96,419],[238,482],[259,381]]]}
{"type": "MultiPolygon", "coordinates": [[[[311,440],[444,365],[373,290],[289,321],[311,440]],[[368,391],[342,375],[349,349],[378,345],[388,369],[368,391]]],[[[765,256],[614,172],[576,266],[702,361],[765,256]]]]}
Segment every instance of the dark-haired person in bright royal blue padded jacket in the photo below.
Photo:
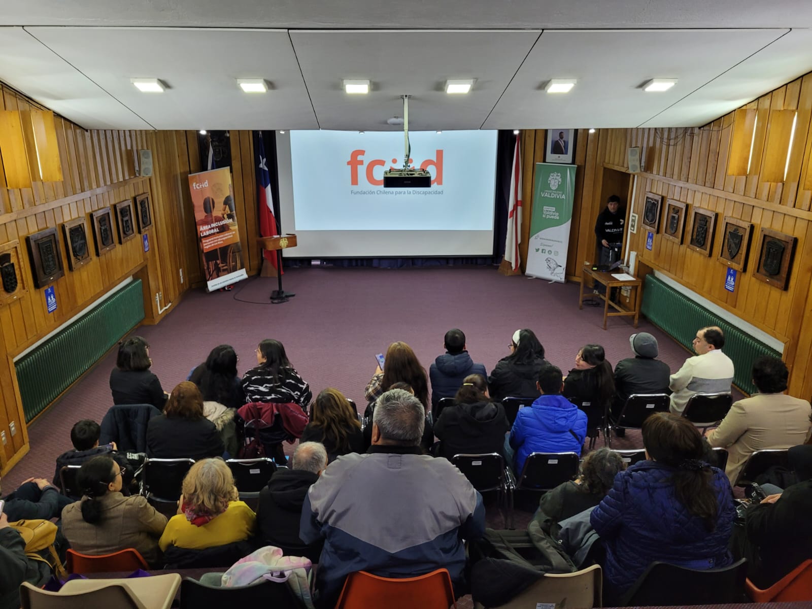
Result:
{"type": "Polygon", "coordinates": [[[561,395],[563,386],[561,370],[552,364],[543,365],[536,381],[542,395],[529,408],[520,409],[505,440],[505,456],[516,473],[521,473],[533,452],[572,451],[581,455],[586,413],[561,395]]]}

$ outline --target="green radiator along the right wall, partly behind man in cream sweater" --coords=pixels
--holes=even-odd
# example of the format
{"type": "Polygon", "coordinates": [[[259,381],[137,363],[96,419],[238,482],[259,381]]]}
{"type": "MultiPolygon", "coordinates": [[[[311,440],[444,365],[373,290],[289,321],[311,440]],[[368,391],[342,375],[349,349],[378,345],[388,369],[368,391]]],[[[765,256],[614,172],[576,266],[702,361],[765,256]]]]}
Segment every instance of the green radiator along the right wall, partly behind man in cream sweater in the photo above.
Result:
{"type": "Polygon", "coordinates": [[[676,342],[693,352],[692,341],[697,330],[704,326],[719,326],[724,332],[724,352],[736,366],[733,384],[741,391],[753,394],[757,390],[751,378],[753,362],[759,356],[780,357],[775,349],[762,343],[753,336],[732,326],[729,322],[711,313],[701,304],[697,304],[685,294],[677,292],[654,274],[646,275],[646,287],[643,290],[643,315],[655,326],[672,335],[676,342]]]}

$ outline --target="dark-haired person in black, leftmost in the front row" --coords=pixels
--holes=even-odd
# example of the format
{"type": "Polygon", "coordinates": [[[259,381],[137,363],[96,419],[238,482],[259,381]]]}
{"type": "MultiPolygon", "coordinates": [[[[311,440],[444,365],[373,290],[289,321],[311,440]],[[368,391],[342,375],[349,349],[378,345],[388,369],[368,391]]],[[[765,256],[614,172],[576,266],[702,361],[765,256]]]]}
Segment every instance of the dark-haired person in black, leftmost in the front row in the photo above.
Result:
{"type": "Polygon", "coordinates": [[[166,393],[158,377],[149,371],[149,343],[140,336],[119,342],[119,356],[110,372],[113,404],[152,404],[162,410],[166,393]]]}

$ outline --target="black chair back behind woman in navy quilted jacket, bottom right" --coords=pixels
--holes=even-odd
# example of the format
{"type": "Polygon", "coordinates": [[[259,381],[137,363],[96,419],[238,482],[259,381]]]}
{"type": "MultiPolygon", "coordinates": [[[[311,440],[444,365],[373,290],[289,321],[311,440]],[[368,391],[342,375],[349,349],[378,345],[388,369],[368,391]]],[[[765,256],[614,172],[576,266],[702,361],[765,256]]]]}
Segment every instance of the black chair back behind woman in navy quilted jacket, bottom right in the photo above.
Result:
{"type": "Polygon", "coordinates": [[[747,560],[728,567],[690,569],[654,562],[628,591],[621,607],[741,603],[747,560]]]}

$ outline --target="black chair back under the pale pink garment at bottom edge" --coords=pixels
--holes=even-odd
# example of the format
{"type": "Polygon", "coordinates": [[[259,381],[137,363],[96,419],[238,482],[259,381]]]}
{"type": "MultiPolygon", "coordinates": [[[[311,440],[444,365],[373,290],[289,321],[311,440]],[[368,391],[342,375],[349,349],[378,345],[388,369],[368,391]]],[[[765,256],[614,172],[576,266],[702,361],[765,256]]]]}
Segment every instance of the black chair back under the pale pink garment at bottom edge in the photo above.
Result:
{"type": "Polygon", "coordinates": [[[185,578],[180,583],[181,609],[201,607],[274,607],[274,609],[299,609],[296,595],[285,582],[261,580],[251,585],[225,588],[201,584],[185,578]]]}

